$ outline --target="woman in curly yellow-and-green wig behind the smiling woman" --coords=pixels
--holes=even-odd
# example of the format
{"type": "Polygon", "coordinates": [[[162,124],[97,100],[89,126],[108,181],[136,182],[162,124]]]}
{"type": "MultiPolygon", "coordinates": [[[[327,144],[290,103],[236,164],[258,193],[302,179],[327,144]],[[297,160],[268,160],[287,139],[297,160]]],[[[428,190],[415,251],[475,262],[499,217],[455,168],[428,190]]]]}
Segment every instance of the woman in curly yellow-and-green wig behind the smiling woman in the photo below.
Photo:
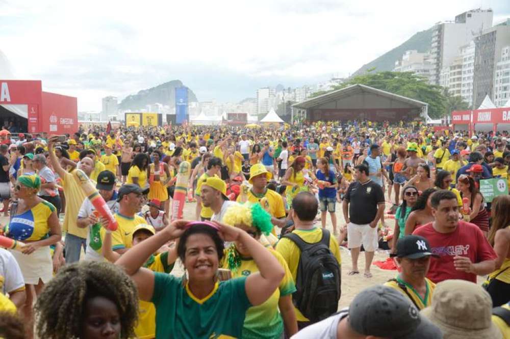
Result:
{"type": "MultiPolygon", "coordinates": [[[[259,241],[262,233],[268,236],[273,229],[271,215],[260,204],[231,206],[226,210],[222,221],[246,231],[259,241]]],[[[296,314],[292,304],[292,293],[296,291],[296,287],[292,274],[282,255],[272,248],[269,248],[269,251],[285,269],[285,276],[269,299],[259,306],[248,308],[243,325],[243,339],[278,339],[282,337],[284,327],[288,337],[297,332],[296,314]]],[[[225,250],[222,267],[229,269],[235,278],[259,272],[257,264],[240,242],[232,243],[225,250]]]]}

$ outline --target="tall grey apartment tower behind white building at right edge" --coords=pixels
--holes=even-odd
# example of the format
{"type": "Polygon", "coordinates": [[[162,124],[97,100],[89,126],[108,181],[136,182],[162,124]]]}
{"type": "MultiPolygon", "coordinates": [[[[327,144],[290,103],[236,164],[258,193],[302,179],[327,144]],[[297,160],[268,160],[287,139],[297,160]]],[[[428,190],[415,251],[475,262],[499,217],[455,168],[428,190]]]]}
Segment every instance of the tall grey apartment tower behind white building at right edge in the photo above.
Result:
{"type": "Polygon", "coordinates": [[[474,39],[475,64],[473,72],[473,106],[478,107],[486,95],[494,101],[496,65],[501,50],[510,45],[510,21],[485,30],[474,39]]]}

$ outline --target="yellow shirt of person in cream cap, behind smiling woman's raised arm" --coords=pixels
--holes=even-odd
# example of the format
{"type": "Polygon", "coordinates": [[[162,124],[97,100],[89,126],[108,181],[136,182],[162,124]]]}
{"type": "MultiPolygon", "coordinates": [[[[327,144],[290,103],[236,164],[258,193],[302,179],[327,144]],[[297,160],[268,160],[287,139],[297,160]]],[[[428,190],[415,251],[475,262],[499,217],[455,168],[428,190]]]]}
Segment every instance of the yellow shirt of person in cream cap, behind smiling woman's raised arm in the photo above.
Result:
{"type": "MultiPolygon", "coordinates": [[[[159,253],[151,256],[143,265],[152,272],[170,273],[173,264],[168,265],[168,252],[159,253]]],[[[138,324],[135,328],[136,337],[139,339],[149,339],[156,336],[156,307],[149,301],[139,301],[138,324]]]]}

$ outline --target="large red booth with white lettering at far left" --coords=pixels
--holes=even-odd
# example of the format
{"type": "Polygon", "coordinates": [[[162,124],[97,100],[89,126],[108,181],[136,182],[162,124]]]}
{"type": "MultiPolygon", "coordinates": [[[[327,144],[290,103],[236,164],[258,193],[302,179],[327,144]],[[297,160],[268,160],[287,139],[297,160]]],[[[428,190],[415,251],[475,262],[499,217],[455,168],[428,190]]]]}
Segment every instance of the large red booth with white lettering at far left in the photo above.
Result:
{"type": "Polygon", "coordinates": [[[0,123],[11,119],[21,132],[72,134],[78,131],[78,100],[43,92],[40,80],[0,80],[0,123]]]}

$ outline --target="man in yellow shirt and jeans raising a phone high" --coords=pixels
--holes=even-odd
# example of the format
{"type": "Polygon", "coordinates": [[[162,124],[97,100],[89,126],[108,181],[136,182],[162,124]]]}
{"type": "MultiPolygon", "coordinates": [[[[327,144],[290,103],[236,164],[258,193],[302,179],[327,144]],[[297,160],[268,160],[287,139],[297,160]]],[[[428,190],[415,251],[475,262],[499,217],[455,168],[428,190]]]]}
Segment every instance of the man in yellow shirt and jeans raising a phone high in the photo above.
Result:
{"type": "MultiPolygon", "coordinates": [[[[74,180],[73,175],[60,165],[60,161],[55,155],[54,146],[57,142],[58,135],[50,136],[48,139],[49,161],[53,166],[53,170],[62,179],[62,187],[66,197],[64,223],[62,230],[66,232],[65,236],[65,260],[67,264],[71,264],[80,260],[80,252],[83,246],[85,250],[87,243],[87,230],[81,229],[77,225],[77,215],[80,207],[87,196],[83,192],[80,185],[74,180]]],[[[84,157],[78,168],[90,177],[94,169],[94,160],[84,157]]]]}

